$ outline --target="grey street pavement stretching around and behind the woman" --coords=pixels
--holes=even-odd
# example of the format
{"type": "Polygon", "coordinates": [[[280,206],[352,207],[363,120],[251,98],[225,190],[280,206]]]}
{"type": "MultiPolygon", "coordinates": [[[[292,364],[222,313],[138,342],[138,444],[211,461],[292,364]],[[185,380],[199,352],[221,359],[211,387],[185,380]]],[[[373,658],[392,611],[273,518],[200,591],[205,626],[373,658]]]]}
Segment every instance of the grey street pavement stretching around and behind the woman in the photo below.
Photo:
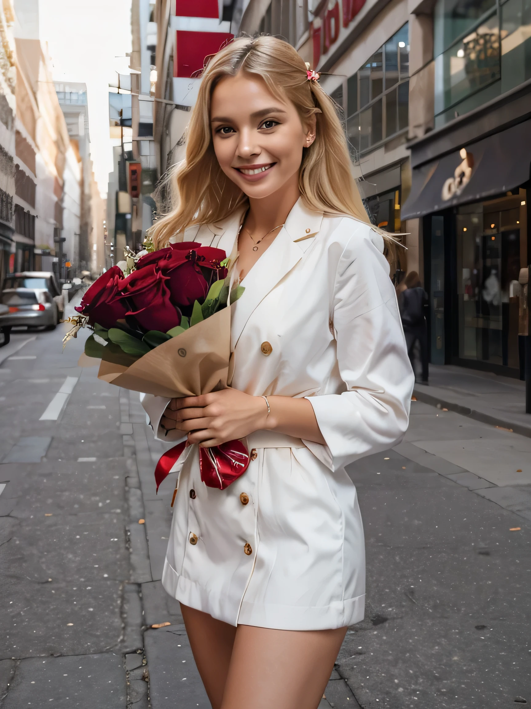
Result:
{"type": "MultiPolygon", "coordinates": [[[[153,471],[169,445],[137,393],[77,367],[86,333],[62,352],[65,327],[0,348],[0,706],[207,709],[160,583],[175,476],[156,495],[153,471]]],[[[458,375],[455,396],[484,386],[458,375]]],[[[447,379],[430,380],[404,441],[348,467],[367,607],[319,709],[531,703],[531,440],[444,411],[447,379]]]]}

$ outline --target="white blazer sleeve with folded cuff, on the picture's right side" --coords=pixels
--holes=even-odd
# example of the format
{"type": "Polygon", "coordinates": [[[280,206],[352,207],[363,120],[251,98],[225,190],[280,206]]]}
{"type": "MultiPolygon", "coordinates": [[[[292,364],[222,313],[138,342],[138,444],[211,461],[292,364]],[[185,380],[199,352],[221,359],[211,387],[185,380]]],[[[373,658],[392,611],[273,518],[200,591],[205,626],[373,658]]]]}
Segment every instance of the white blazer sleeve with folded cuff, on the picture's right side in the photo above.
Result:
{"type": "Polygon", "coordinates": [[[389,264],[369,232],[362,225],[355,229],[333,288],[331,314],[345,391],[307,397],[326,446],[304,443],[331,470],[396,445],[409,423],[414,375],[389,264]]]}

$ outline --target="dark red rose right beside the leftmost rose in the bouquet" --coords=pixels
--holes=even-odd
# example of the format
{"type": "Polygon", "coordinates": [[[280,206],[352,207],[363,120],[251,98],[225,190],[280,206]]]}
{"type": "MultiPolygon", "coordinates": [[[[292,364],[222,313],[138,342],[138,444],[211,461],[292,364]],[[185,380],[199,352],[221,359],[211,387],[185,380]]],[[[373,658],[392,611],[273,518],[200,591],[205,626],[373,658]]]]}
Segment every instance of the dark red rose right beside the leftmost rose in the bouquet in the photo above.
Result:
{"type": "Polygon", "coordinates": [[[127,315],[135,316],[146,330],[166,333],[181,324],[181,311],[171,303],[168,277],[155,264],[132,272],[121,284],[121,292],[131,307],[127,315]]]}

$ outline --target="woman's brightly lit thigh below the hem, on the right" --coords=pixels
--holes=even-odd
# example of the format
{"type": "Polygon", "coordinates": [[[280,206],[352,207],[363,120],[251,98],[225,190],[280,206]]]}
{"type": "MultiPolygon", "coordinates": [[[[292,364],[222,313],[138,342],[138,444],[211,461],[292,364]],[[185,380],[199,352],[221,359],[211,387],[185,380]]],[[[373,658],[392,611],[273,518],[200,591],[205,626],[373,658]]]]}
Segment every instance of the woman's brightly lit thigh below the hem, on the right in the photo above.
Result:
{"type": "Polygon", "coordinates": [[[222,709],[316,709],[346,630],[239,625],[222,709]]]}

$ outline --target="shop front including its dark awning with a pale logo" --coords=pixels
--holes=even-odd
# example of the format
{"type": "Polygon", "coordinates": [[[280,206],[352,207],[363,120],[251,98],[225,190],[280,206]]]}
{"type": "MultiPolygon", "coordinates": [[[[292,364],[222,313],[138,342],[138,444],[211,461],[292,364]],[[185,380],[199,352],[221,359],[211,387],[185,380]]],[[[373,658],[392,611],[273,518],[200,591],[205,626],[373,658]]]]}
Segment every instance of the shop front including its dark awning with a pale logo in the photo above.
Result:
{"type": "Polygon", "coordinates": [[[523,378],[531,121],[413,169],[430,362],[523,378]],[[475,198],[475,199],[474,199],[475,198]]]}

